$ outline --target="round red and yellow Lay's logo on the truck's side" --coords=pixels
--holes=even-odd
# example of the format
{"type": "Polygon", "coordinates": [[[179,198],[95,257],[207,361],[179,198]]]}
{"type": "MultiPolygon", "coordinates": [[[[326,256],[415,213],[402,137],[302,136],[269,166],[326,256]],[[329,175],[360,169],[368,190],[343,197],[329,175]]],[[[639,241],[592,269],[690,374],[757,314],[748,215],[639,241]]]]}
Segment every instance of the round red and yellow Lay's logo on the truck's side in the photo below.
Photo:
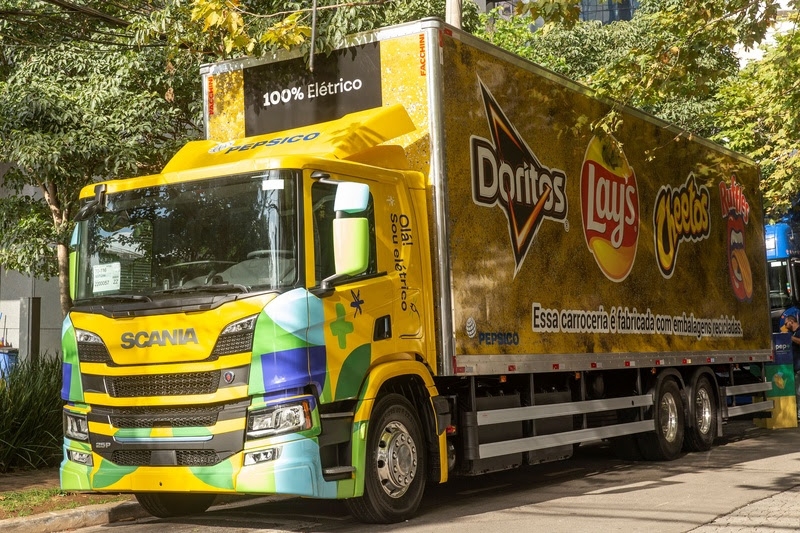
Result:
{"type": "Polygon", "coordinates": [[[611,281],[628,277],[639,242],[639,189],[625,154],[611,136],[592,137],[581,170],[586,246],[611,281]]]}

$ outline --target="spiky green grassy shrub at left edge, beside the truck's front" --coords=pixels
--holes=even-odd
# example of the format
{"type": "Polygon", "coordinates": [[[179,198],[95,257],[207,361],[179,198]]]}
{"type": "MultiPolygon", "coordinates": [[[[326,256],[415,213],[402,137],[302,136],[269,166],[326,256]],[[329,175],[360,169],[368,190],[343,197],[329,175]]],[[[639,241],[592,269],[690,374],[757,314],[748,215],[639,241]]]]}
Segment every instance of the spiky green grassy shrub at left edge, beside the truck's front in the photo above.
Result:
{"type": "Polygon", "coordinates": [[[21,361],[0,379],[0,472],[61,460],[61,361],[21,361]]]}

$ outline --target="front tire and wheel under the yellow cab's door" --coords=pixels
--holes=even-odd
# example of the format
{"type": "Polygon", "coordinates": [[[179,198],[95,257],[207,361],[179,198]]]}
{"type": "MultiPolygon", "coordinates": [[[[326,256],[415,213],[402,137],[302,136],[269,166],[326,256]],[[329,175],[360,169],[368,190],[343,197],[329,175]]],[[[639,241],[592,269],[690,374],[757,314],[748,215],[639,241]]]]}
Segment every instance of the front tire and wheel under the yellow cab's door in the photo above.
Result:
{"type": "Polygon", "coordinates": [[[399,394],[378,400],[367,432],[364,495],[346,500],[362,522],[391,524],[416,513],[428,474],[416,410],[399,394]]]}

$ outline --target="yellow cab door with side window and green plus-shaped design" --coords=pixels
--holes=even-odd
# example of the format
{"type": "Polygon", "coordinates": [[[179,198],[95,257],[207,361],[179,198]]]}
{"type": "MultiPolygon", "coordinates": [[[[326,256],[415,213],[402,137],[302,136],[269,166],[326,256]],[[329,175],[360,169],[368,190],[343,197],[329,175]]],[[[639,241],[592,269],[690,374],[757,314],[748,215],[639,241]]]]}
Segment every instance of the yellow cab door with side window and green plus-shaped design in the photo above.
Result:
{"type": "Polygon", "coordinates": [[[326,373],[320,401],[328,403],[357,397],[370,366],[395,352],[392,331],[395,290],[388,275],[392,268],[390,252],[377,235],[375,223],[384,215],[385,207],[378,199],[385,197],[384,189],[388,186],[351,176],[331,175],[311,181],[311,228],[306,237],[313,243],[307,247],[313,249],[313,254],[309,254],[313,258],[309,258],[311,272],[307,279],[312,294],[319,294],[321,300],[322,331],[318,333],[324,336],[326,373]],[[336,194],[342,182],[369,186],[366,209],[348,214],[336,212],[336,194]],[[333,281],[330,289],[321,290],[323,280],[336,274],[334,220],[337,216],[366,218],[369,257],[363,272],[333,281]]]}

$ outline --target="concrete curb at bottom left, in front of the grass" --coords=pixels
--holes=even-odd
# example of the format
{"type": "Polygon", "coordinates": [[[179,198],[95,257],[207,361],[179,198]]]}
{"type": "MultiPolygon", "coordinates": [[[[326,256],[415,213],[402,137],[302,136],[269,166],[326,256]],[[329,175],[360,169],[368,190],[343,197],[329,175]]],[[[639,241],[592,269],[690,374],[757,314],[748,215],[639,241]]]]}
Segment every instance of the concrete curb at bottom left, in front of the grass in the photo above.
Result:
{"type": "Polygon", "coordinates": [[[101,503],[0,520],[0,531],[3,533],[52,533],[53,531],[100,526],[122,520],[135,520],[146,516],[150,515],[136,502],[101,503]]]}

